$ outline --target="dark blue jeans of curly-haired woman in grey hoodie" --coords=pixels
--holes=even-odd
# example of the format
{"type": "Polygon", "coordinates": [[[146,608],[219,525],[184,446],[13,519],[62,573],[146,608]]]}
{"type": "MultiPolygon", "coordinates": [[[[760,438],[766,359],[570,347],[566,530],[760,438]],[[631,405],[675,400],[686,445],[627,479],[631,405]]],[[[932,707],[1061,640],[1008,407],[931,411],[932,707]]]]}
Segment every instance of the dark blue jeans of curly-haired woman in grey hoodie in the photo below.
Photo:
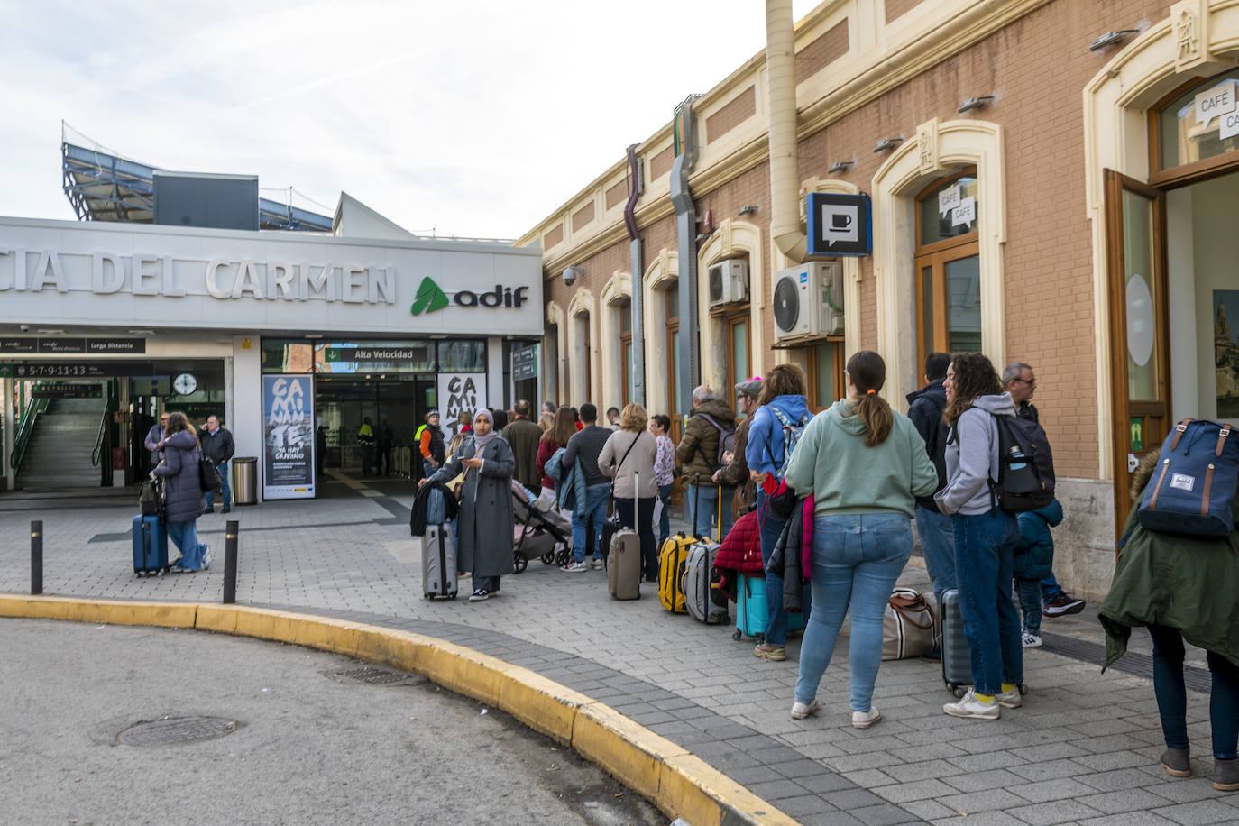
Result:
{"type": "Polygon", "coordinates": [[[1012,550],[1020,528],[1015,516],[996,508],[975,516],[955,514],[952,520],[973,685],[979,693],[1001,693],[1004,682],[1023,682],[1020,612],[1011,599],[1012,550]]]}

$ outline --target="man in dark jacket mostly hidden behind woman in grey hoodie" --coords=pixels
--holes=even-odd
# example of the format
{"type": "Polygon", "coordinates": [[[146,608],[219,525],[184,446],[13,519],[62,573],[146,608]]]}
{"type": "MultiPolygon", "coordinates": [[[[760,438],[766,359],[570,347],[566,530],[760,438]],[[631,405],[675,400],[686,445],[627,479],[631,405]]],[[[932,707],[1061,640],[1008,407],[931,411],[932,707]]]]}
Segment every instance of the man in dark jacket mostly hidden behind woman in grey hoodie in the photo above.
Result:
{"type": "MultiPolygon", "coordinates": [[[[924,440],[926,452],[938,471],[938,490],[947,484],[948,427],[942,420],[947,409],[947,368],[950,357],[930,353],[926,357],[926,386],[908,394],[908,419],[924,440]]],[[[942,592],[955,587],[955,531],[950,516],[938,510],[933,495],[917,498],[917,535],[926,571],[933,583],[933,593],[940,601],[942,592]]]]}

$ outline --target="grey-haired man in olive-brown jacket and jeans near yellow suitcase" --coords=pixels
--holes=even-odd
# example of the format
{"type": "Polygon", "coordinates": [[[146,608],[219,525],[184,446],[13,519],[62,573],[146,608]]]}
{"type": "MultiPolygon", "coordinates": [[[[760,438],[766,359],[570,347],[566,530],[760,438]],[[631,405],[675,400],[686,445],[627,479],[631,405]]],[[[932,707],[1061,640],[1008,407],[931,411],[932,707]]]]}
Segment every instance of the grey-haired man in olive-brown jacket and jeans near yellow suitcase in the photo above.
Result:
{"type": "Polygon", "coordinates": [[[675,462],[688,477],[684,508],[694,534],[717,540],[719,518],[722,535],[731,530],[731,498],[735,488],[716,485],[715,472],[727,467],[727,452],[735,452],[736,414],[726,402],[714,398],[707,385],[693,388],[693,414],[684,426],[684,436],[675,448],[675,462]]]}

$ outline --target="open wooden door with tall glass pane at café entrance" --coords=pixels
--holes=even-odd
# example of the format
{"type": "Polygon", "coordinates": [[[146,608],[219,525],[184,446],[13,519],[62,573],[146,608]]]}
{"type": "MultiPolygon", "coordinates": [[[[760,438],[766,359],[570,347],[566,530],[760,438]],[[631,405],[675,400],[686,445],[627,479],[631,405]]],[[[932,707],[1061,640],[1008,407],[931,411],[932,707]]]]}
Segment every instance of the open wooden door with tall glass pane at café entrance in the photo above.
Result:
{"type": "Polygon", "coordinates": [[[1115,528],[1131,510],[1127,483],[1141,457],[1171,425],[1165,196],[1105,171],[1110,296],[1110,375],[1114,400],[1115,528]]]}

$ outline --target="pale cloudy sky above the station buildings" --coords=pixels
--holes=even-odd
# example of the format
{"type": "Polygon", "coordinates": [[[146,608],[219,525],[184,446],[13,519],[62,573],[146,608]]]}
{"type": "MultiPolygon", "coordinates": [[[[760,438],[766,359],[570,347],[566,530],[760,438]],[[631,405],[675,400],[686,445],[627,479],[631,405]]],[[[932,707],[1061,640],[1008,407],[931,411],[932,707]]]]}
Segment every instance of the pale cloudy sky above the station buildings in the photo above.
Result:
{"type": "Polygon", "coordinates": [[[5,6],[0,215],[69,220],[62,121],[328,215],[346,191],[418,234],[517,238],[766,41],[761,0],[5,6]]]}

